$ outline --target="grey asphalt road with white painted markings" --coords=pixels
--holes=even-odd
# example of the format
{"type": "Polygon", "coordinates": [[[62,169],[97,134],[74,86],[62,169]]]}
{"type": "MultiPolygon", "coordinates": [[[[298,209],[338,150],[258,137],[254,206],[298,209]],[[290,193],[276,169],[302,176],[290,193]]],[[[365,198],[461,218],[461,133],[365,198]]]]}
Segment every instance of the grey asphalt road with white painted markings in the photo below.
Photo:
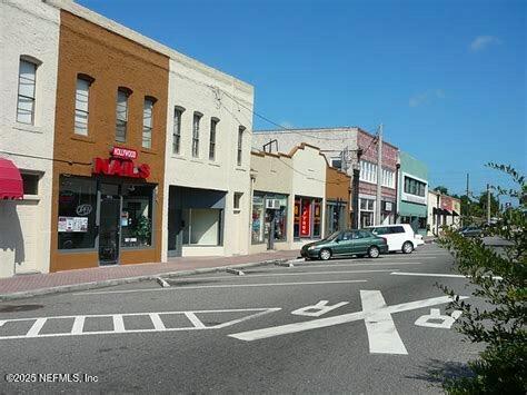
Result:
{"type": "Polygon", "coordinates": [[[478,352],[435,286],[470,295],[451,263],[427,245],[2,303],[0,393],[440,393],[478,352]]]}

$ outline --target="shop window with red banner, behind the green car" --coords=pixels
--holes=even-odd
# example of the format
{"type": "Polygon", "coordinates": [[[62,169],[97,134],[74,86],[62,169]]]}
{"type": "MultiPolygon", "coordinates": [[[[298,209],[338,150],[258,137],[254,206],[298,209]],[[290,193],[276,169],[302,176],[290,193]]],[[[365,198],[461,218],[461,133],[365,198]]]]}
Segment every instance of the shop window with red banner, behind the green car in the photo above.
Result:
{"type": "Polygon", "coordinates": [[[296,238],[320,237],[321,199],[295,198],[294,236],[296,238]]]}

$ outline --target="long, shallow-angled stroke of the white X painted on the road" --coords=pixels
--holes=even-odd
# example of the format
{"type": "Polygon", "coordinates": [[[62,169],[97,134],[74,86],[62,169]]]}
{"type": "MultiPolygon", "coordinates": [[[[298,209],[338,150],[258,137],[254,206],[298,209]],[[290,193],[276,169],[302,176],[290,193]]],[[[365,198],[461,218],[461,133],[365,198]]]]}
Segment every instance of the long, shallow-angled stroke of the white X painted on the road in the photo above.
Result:
{"type": "MultiPolygon", "coordinates": [[[[459,298],[466,299],[468,298],[468,296],[460,296],[459,298]]],[[[412,309],[422,308],[422,307],[443,305],[450,302],[453,302],[453,298],[450,298],[449,296],[439,296],[439,297],[424,299],[424,300],[401,303],[395,306],[387,306],[385,307],[385,309],[387,309],[388,313],[399,313],[399,312],[412,310],[412,309]]],[[[365,319],[365,317],[366,317],[365,312],[357,312],[357,313],[344,314],[344,315],[334,316],[334,317],[306,320],[304,323],[286,324],[286,325],[279,325],[279,326],[271,326],[271,327],[262,328],[262,329],[241,332],[241,333],[231,334],[228,336],[240,339],[240,340],[252,342],[252,340],[259,340],[262,338],[269,338],[269,337],[275,337],[275,336],[294,334],[298,332],[305,332],[305,330],[325,328],[325,327],[334,326],[334,325],[351,323],[355,320],[365,319]]]]}

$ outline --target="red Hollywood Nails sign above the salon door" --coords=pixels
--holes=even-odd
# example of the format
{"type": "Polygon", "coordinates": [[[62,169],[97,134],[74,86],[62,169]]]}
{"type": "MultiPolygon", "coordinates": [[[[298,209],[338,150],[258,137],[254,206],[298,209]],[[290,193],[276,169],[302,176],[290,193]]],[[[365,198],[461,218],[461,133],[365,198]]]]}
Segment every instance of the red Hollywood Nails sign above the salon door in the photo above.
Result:
{"type": "Polygon", "coordinates": [[[137,151],[133,149],[113,147],[111,158],[93,158],[95,175],[121,176],[132,178],[150,177],[150,166],[142,164],[136,166],[132,159],[137,158],[137,151]]]}

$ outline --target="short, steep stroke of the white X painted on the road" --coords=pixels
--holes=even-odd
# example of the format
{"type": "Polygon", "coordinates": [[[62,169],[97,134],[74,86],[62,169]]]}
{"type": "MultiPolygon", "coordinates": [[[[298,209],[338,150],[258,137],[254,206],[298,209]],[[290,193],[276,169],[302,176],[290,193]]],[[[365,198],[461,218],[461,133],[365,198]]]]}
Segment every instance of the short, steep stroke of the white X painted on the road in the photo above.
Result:
{"type": "Polygon", "coordinates": [[[385,298],[379,290],[361,290],[360,300],[368,332],[369,352],[374,354],[407,355],[385,298]]]}

